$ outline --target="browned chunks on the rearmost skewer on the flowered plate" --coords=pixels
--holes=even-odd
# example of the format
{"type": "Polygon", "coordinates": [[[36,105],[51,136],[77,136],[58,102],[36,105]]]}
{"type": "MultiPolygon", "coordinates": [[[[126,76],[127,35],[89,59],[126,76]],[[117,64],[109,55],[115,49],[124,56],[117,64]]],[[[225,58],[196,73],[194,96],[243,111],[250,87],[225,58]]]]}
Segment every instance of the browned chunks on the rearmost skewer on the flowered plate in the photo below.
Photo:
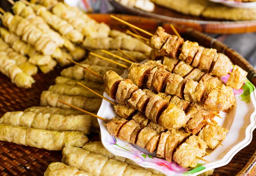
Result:
{"type": "MultiPolygon", "coordinates": [[[[149,40],[149,45],[164,56],[183,60],[193,67],[217,77],[226,76],[231,69],[231,61],[227,57],[222,57],[221,54],[218,54],[216,49],[204,48],[199,46],[198,43],[188,40],[183,42],[182,38],[166,33],[162,27],[157,28],[157,31],[149,40]],[[181,49],[180,53],[178,52],[179,48],[181,49]]],[[[236,68],[239,67],[236,66],[236,68]]],[[[227,85],[239,89],[246,79],[247,72],[239,69],[237,74],[235,73],[236,70],[231,75],[238,77],[239,74],[239,78],[236,78],[236,82],[232,82],[234,78],[231,77],[227,85]]]]}

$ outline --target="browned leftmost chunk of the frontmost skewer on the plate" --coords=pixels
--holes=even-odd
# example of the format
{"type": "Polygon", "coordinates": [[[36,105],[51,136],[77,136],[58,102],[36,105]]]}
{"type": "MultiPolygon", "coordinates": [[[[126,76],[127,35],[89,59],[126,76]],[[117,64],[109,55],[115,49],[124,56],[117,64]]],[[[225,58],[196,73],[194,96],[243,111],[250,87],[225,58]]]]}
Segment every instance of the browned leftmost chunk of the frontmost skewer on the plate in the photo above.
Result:
{"type": "Polygon", "coordinates": [[[115,116],[110,119],[108,123],[106,123],[105,127],[108,133],[110,133],[112,136],[117,137],[122,126],[124,126],[127,122],[128,120],[121,119],[120,117],[115,116]]]}

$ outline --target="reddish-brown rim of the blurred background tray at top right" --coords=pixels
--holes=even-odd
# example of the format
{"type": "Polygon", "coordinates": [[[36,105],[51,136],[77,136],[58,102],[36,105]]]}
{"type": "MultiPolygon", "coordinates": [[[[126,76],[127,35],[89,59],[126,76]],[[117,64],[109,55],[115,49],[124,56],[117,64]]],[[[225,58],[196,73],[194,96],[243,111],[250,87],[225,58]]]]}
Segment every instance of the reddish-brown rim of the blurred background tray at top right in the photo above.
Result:
{"type": "MultiPolygon", "coordinates": [[[[239,34],[246,32],[256,32],[256,20],[252,21],[224,21],[218,19],[207,19],[204,17],[194,17],[181,14],[179,12],[161,7],[155,4],[153,12],[146,12],[134,7],[123,6],[115,0],[110,1],[111,4],[120,12],[140,15],[148,18],[155,18],[167,23],[176,23],[192,27],[195,30],[212,33],[212,34],[239,34]]],[[[186,8],[186,7],[185,7],[186,8]]]]}

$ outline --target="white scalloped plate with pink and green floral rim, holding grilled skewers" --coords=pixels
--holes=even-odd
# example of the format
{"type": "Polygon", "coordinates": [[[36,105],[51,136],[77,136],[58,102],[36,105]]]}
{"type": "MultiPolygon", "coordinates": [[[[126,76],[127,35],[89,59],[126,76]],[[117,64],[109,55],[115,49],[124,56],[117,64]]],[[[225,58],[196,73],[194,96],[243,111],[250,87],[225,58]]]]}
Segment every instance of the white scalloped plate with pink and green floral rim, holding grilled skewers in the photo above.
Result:
{"type": "MultiPolygon", "coordinates": [[[[227,77],[223,77],[224,82],[225,80],[227,80],[227,77]]],[[[204,156],[204,159],[209,162],[200,161],[195,168],[182,168],[175,162],[167,162],[164,159],[154,157],[156,156],[155,153],[149,153],[136,145],[114,138],[106,130],[105,122],[98,119],[102,144],[114,155],[131,159],[142,167],[159,170],[166,176],[183,176],[184,174],[196,176],[207,170],[227,165],[236,153],[251,142],[253,130],[256,128],[255,87],[250,82],[246,82],[243,89],[235,91],[235,94],[236,106],[229,113],[220,113],[224,119],[215,117],[219,125],[229,130],[226,139],[221,142],[224,146],[218,145],[215,150],[207,149],[207,152],[211,155],[204,156]]],[[[111,99],[106,93],[103,95],[111,99]]],[[[113,99],[111,100],[113,101],[113,99]]],[[[116,116],[116,113],[113,105],[103,100],[97,115],[105,119],[111,119],[116,116]]]]}

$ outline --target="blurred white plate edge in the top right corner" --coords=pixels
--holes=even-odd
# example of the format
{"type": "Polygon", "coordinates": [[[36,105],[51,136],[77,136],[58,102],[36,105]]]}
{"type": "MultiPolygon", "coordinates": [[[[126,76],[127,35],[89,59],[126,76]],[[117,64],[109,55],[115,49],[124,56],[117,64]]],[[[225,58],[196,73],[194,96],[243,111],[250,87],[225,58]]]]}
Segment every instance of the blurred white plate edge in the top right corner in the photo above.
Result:
{"type": "Polygon", "coordinates": [[[228,7],[235,7],[235,8],[241,8],[241,9],[253,9],[256,8],[256,2],[250,2],[250,3],[242,3],[238,1],[233,0],[209,0],[214,3],[221,3],[224,6],[228,7]]]}

